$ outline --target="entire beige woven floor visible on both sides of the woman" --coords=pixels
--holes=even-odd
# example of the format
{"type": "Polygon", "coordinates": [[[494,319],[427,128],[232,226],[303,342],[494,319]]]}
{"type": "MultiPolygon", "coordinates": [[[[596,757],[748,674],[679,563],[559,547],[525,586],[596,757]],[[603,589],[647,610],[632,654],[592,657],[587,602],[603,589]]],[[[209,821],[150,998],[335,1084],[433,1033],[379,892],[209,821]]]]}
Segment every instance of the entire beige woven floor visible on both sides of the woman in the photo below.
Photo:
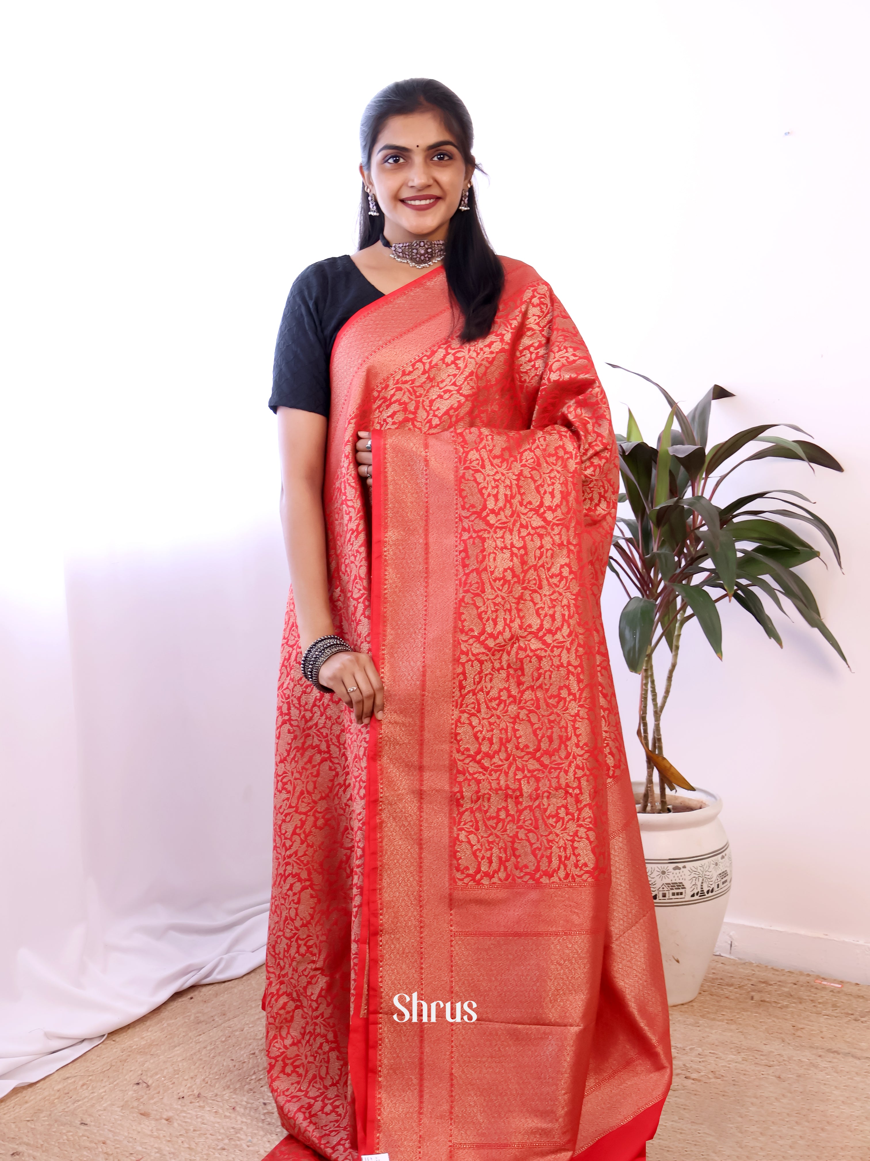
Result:
{"type": "MultiPolygon", "coordinates": [[[[0,1102],[0,1161],[261,1159],[262,969],[191,988],[0,1102]]],[[[672,1009],[675,1076],[650,1161],[870,1161],[870,987],[713,960],[672,1009]]]]}

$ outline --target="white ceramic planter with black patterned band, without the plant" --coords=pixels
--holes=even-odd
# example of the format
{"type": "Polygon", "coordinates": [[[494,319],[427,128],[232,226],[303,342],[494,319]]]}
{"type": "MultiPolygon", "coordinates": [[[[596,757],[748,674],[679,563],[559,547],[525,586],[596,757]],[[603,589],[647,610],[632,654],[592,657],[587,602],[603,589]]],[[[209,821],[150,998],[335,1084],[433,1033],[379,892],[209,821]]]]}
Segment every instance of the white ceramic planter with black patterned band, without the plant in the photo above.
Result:
{"type": "MultiPolygon", "coordinates": [[[[643,783],[632,783],[639,803],[643,783]]],[[[668,796],[673,814],[638,814],[646,872],[655,902],[669,1004],[698,994],[725,918],[731,851],[719,819],[722,799],[709,791],[668,796]]]]}

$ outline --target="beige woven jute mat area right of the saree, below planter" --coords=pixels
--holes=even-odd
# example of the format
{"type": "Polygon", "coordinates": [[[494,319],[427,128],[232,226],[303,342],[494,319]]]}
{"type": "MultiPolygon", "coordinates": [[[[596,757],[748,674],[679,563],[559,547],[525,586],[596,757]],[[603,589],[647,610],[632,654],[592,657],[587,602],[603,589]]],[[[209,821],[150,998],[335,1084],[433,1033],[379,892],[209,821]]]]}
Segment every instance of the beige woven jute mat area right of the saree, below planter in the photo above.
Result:
{"type": "Polygon", "coordinates": [[[648,1161],[870,1161],[870,987],[713,959],[648,1161]]]}

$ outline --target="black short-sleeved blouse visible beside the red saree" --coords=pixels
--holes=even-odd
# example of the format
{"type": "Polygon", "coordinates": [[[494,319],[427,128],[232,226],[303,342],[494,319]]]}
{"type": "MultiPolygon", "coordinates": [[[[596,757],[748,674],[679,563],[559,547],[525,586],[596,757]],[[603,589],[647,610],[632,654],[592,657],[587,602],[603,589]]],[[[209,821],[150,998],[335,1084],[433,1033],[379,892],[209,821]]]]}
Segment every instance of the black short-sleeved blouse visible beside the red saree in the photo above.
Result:
{"type": "Polygon", "coordinates": [[[349,254],[309,266],[293,282],[278,329],[273,411],[329,414],[329,358],[335,336],[357,310],[383,298],[349,254]]]}

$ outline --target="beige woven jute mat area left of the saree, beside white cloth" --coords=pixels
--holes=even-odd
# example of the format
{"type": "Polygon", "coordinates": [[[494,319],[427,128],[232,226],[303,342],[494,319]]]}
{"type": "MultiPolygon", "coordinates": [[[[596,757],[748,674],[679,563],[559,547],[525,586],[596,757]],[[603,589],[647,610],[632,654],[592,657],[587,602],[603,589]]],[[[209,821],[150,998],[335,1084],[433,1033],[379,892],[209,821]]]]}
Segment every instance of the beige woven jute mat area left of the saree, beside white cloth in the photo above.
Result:
{"type": "Polygon", "coordinates": [[[266,1083],[263,969],[181,991],[0,1101],[0,1161],[262,1158],[284,1137],[266,1083]]]}

